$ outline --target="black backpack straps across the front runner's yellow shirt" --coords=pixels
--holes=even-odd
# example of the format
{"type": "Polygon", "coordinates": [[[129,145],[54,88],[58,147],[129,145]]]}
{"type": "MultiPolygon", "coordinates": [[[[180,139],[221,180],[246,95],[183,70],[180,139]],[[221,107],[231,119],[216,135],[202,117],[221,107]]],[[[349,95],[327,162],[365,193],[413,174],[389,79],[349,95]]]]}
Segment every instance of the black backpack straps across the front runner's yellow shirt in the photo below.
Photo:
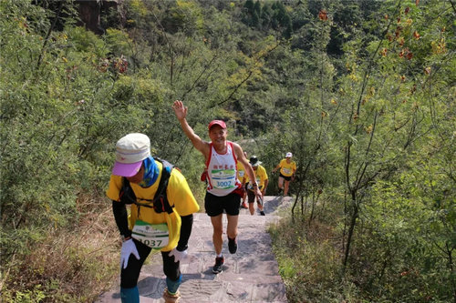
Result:
{"type": "Polygon", "coordinates": [[[162,168],[159,187],[157,188],[153,199],[141,199],[148,201],[148,203],[138,202],[138,199],[136,198],[136,195],[130,186],[130,181],[126,177],[122,177],[122,187],[120,188],[119,200],[125,204],[135,204],[138,207],[153,208],[158,214],[165,211],[171,214],[172,207],[170,205],[170,201],[168,201],[166,189],[171,177],[171,170],[174,168],[174,166],[170,162],[159,157],[154,157],[154,160],[161,162],[162,168]]]}

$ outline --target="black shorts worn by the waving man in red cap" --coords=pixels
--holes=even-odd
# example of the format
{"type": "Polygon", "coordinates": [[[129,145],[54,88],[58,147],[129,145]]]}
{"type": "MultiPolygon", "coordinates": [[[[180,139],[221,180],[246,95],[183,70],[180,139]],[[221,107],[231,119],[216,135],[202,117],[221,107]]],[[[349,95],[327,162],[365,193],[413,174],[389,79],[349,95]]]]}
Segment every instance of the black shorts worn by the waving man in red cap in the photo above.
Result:
{"type": "Polygon", "coordinates": [[[206,214],[209,217],[219,216],[223,214],[223,210],[227,215],[237,216],[239,215],[240,206],[241,196],[235,193],[218,197],[206,192],[206,197],[204,197],[204,208],[206,208],[206,214]]]}

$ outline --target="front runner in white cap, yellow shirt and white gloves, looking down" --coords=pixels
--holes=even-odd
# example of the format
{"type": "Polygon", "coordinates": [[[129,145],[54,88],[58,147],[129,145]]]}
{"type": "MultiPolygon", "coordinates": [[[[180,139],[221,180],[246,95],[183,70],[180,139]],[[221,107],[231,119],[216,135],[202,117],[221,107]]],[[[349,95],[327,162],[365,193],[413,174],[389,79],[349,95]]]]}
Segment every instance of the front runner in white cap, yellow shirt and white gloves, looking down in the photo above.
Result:
{"type": "Polygon", "coordinates": [[[178,169],[150,156],[148,136],[134,133],[116,144],[116,162],[107,196],[123,243],[120,250],[120,298],[139,302],[140,269],[152,249],[161,250],[165,302],[181,297],[180,261],[187,255],[193,213],[200,207],[178,169]],[[166,185],[166,181],[168,184],[166,185]],[[130,185],[130,186],[129,186],[130,185]],[[161,192],[157,191],[161,188],[161,192]],[[166,202],[168,201],[168,202],[166,202]],[[130,204],[130,220],[126,204],[130,204]]]}

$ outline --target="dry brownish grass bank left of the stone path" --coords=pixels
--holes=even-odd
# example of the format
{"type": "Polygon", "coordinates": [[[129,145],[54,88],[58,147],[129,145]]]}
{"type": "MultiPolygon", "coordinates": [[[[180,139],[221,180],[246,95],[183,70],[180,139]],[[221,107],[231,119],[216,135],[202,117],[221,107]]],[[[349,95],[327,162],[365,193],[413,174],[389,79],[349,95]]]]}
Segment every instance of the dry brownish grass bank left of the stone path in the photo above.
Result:
{"type": "Polygon", "coordinates": [[[3,302],[93,302],[119,275],[119,232],[106,200],[81,196],[81,216],[17,254],[3,280],[3,302]]]}

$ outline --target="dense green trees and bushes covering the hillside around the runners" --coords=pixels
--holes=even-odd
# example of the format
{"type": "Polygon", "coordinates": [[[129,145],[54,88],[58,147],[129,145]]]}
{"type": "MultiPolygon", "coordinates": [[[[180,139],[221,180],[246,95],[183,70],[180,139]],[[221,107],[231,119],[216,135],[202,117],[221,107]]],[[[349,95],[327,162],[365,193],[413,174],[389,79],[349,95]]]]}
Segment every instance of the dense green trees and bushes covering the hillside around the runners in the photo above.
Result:
{"type": "MultiPolygon", "coordinates": [[[[171,111],[175,99],[203,139],[209,121],[226,120],[229,138],[268,172],[295,154],[293,224],[271,230],[290,301],[454,296],[449,2],[135,0],[102,16],[103,36],[75,26],[72,4],[52,27],[53,6],[0,2],[6,301],[99,291],[65,290],[78,266],[86,281],[109,276],[90,249],[61,248],[59,276],[44,261],[58,249],[47,256],[39,243],[80,227],[86,207],[110,214],[103,191],[120,136],[150,136],[202,204],[202,156],[171,111]],[[17,284],[25,265],[30,278],[17,284]]],[[[275,194],[276,175],[270,182],[275,194]]]]}

